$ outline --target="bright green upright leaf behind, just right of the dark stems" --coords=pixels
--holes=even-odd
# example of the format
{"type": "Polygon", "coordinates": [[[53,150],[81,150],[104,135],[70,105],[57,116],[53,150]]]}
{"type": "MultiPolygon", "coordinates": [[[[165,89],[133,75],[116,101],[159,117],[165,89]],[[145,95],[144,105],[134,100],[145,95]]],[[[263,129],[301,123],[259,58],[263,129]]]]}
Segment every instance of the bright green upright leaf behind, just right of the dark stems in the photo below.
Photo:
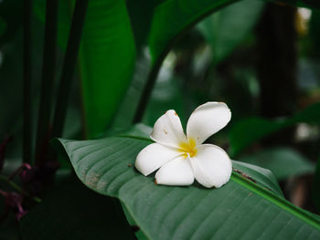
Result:
{"type": "MultiPolygon", "coordinates": [[[[73,1],[59,3],[59,46],[69,36],[73,1]]],[[[36,14],[44,20],[43,1],[36,14]]],[[[124,0],[89,2],[80,47],[80,80],[85,129],[89,138],[110,127],[133,74],[135,44],[124,0]]]]}

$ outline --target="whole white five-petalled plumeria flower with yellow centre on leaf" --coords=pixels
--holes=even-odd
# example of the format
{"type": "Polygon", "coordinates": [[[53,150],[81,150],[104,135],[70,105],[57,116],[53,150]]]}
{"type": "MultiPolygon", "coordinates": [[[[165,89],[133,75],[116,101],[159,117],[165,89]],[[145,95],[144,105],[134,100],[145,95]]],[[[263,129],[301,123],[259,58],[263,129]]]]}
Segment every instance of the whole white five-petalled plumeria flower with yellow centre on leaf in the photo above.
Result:
{"type": "Polygon", "coordinates": [[[138,154],[135,168],[155,173],[155,183],[190,185],[196,178],[205,187],[219,188],[229,181],[232,163],[226,151],[202,144],[224,128],[231,118],[227,104],[207,102],[193,111],[187,121],[187,136],[175,110],[167,110],[155,122],[150,138],[155,141],[138,154]]]}

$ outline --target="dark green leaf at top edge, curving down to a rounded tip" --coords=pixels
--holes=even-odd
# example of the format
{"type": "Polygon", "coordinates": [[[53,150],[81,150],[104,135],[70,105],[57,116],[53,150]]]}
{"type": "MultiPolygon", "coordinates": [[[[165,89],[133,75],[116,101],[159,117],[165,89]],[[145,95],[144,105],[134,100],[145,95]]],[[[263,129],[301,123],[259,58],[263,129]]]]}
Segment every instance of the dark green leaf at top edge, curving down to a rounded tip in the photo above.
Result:
{"type": "MultiPolygon", "coordinates": [[[[171,45],[175,43],[176,38],[181,37],[187,28],[219,8],[234,2],[237,1],[166,0],[157,5],[149,34],[149,47],[153,62],[163,59],[171,45]]],[[[270,1],[265,0],[265,2],[270,1]]],[[[320,3],[317,0],[276,0],[273,2],[320,8],[320,3]]],[[[251,8],[251,6],[249,7],[251,8]]]]}

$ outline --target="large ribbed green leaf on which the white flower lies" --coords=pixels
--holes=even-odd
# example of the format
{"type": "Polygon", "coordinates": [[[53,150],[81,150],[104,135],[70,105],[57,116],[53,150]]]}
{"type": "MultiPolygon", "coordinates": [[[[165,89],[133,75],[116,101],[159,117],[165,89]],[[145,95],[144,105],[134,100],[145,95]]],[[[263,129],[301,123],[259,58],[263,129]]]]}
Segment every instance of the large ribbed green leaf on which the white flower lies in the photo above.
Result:
{"type": "Polygon", "coordinates": [[[156,185],[154,176],[144,177],[133,167],[136,155],[150,141],[112,137],[59,142],[80,180],[98,193],[119,198],[149,239],[320,237],[320,222],[313,214],[239,173],[233,172],[219,189],[197,183],[156,185]]]}

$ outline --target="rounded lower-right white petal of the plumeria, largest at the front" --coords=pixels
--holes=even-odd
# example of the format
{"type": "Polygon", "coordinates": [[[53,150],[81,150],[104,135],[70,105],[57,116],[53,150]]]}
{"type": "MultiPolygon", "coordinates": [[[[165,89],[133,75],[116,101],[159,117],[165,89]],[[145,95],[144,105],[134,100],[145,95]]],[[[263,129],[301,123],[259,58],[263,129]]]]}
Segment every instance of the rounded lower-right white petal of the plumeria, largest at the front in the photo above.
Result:
{"type": "Polygon", "coordinates": [[[227,152],[216,145],[199,145],[190,162],[197,182],[205,187],[219,188],[229,181],[232,163],[227,152]]]}

